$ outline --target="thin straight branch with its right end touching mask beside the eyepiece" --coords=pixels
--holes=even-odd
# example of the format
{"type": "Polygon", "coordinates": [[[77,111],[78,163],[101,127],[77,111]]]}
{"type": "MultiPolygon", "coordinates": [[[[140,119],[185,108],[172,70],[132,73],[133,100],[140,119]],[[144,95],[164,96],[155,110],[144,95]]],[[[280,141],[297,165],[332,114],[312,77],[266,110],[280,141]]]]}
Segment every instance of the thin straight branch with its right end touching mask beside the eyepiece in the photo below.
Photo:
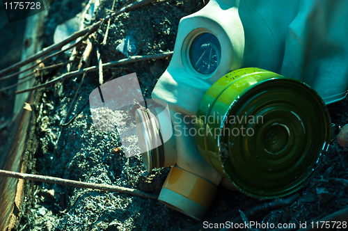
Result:
{"type": "MultiPolygon", "coordinates": [[[[109,67],[113,67],[115,65],[121,65],[121,64],[127,64],[127,63],[134,63],[137,61],[146,61],[146,60],[150,60],[150,59],[157,59],[157,58],[167,58],[167,57],[171,57],[173,55],[173,51],[169,51],[169,52],[164,52],[161,54],[152,54],[152,55],[148,55],[148,56],[130,56],[129,58],[123,58],[119,61],[113,61],[113,62],[109,62],[109,63],[104,63],[102,65],[103,70],[109,68],[109,67]]],[[[28,89],[24,89],[24,90],[17,90],[15,93],[16,94],[21,94],[21,93],[26,93],[28,91],[31,90],[36,90],[39,88],[45,88],[47,86],[51,86],[54,83],[58,82],[58,81],[62,81],[63,79],[67,79],[70,77],[74,77],[77,74],[84,74],[84,73],[88,73],[88,72],[93,72],[99,70],[99,66],[92,66],[92,67],[87,67],[83,70],[77,70],[74,72],[69,72],[69,73],[65,73],[62,74],[60,77],[56,78],[56,79],[52,79],[51,81],[48,81],[47,83],[43,83],[41,85],[38,86],[34,86],[33,88],[28,88],[28,89]]]]}

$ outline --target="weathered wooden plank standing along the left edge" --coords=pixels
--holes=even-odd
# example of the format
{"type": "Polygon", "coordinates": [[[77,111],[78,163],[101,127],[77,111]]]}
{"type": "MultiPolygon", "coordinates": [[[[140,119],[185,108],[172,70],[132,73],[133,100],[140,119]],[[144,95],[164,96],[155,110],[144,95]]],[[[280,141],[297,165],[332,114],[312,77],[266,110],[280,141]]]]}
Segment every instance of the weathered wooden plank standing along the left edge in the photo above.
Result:
{"type": "MultiPolygon", "coordinates": [[[[26,19],[26,31],[22,47],[22,60],[37,53],[42,49],[43,22],[47,10],[26,19]]],[[[31,64],[29,64],[31,65],[31,64]]],[[[25,68],[26,66],[22,67],[25,68]]],[[[26,74],[23,73],[23,74],[26,74]]],[[[20,77],[20,76],[19,76],[20,77]]],[[[29,88],[33,81],[19,85],[17,90],[29,88]]],[[[29,141],[31,128],[31,115],[33,111],[23,109],[24,102],[33,104],[36,91],[31,94],[16,95],[11,132],[6,147],[0,153],[0,168],[13,171],[26,171],[27,159],[26,145],[29,141]]],[[[0,177],[0,230],[12,230],[16,227],[24,200],[24,181],[10,177],[0,177]]]]}

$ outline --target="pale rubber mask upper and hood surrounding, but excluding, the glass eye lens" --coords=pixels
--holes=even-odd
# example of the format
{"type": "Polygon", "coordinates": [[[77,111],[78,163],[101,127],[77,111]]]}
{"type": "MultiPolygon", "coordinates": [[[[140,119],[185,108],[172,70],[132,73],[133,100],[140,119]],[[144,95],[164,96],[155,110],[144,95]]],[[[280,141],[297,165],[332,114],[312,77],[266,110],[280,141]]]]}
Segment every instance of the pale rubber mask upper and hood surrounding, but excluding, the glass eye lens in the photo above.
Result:
{"type": "Polygon", "coordinates": [[[194,116],[217,79],[242,67],[260,67],[308,83],[329,104],[348,88],[348,1],[219,1],[181,19],[171,63],[152,93],[169,108],[194,116]],[[201,34],[216,36],[219,66],[200,74],[190,60],[201,34]]]}

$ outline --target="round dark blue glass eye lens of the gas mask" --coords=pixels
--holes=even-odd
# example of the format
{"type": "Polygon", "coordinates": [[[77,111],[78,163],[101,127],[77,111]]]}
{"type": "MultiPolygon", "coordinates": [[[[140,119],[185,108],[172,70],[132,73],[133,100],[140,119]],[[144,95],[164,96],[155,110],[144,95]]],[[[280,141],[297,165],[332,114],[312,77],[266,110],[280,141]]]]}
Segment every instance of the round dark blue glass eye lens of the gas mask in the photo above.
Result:
{"type": "Polygon", "coordinates": [[[212,74],[219,66],[221,47],[211,33],[203,33],[193,41],[190,50],[191,63],[200,74],[212,74]]]}

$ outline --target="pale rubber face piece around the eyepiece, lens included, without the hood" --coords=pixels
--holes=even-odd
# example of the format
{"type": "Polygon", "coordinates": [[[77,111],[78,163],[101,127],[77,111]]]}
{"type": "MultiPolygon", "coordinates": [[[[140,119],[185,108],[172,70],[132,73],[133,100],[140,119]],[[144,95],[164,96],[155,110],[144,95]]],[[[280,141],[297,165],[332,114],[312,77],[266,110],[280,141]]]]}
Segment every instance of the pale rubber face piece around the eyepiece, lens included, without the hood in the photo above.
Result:
{"type": "Polygon", "coordinates": [[[209,87],[242,66],[244,40],[235,1],[212,0],[200,11],[183,17],[171,63],[159,78],[152,99],[162,99],[169,109],[194,116],[209,87]]]}

